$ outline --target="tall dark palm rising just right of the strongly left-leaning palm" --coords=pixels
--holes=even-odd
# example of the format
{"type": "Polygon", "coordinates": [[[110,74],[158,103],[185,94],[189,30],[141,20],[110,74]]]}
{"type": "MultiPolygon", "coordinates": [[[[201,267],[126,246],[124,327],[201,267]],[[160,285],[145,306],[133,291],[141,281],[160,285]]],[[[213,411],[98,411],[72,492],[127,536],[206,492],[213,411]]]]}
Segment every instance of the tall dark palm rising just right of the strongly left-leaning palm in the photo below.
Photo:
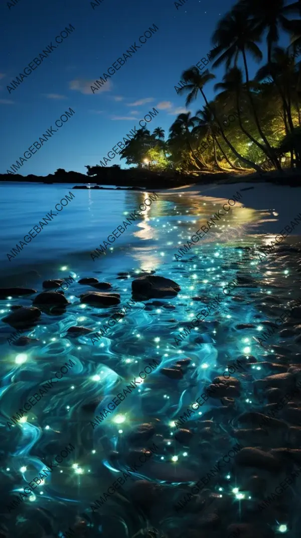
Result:
{"type": "Polygon", "coordinates": [[[262,59],[262,53],[260,51],[260,48],[255,43],[255,41],[260,41],[260,30],[254,29],[253,22],[248,20],[246,14],[241,9],[241,4],[245,5],[243,2],[244,0],[242,0],[242,2],[239,2],[232,11],[227,13],[227,15],[220,20],[217,26],[217,30],[213,33],[212,42],[219,43],[219,46],[216,49],[213,49],[211,53],[212,59],[216,58],[221,53],[221,51],[224,52],[213,63],[212,67],[218,67],[219,65],[221,65],[221,63],[225,61],[226,68],[228,69],[233,59],[234,66],[236,67],[239,54],[242,54],[243,65],[245,67],[246,73],[247,95],[250,101],[250,105],[252,107],[255,124],[262,140],[266,144],[269,157],[271,158],[275,166],[278,168],[278,170],[281,170],[281,166],[276,158],[274,149],[271,148],[268,139],[266,138],[265,134],[261,129],[252,91],[250,90],[246,52],[248,51],[256,61],[260,61],[262,59]]]}

